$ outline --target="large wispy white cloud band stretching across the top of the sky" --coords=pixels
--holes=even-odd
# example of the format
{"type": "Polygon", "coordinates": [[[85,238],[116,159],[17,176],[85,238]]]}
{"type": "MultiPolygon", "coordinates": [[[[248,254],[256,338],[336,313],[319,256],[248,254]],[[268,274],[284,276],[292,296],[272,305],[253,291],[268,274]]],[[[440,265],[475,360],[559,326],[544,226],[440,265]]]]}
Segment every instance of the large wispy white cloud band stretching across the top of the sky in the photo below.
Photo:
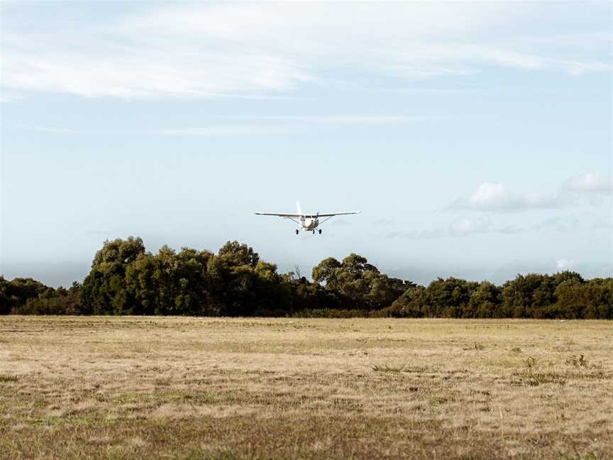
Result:
{"type": "MultiPolygon", "coordinates": [[[[53,28],[32,26],[18,7],[4,12],[4,87],[85,97],[261,97],[348,69],[411,79],[491,66],[610,70],[606,53],[576,59],[572,40],[553,45],[497,32],[526,14],[555,16],[556,6],[202,3],[76,24],[69,22],[75,10],[57,6],[53,28]]],[[[607,40],[591,43],[600,49],[607,40]]]]}

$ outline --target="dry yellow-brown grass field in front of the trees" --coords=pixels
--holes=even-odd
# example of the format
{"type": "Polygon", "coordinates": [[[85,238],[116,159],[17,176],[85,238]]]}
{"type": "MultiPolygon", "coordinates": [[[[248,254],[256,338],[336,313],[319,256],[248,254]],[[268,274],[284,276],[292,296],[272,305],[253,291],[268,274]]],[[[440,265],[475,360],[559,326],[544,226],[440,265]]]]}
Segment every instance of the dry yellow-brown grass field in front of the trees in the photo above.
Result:
{"type": "Polygon", "coordinates": [[[613,323],[0,317],[0,458],[613,458],[613,323]]]}

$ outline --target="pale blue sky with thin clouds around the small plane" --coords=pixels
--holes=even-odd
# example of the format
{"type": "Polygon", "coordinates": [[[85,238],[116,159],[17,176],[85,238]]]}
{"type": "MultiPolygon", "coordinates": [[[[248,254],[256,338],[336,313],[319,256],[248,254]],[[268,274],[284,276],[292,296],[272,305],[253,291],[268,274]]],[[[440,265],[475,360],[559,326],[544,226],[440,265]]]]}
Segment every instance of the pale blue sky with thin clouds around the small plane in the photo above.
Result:
{"type": "Polygon", "coordinates": [[[610,2],[0,3],[0,274],[106,239],[280,272],[613,273],[610,2]],[[323,234],[253,212],[359,210],[323,234]]]}

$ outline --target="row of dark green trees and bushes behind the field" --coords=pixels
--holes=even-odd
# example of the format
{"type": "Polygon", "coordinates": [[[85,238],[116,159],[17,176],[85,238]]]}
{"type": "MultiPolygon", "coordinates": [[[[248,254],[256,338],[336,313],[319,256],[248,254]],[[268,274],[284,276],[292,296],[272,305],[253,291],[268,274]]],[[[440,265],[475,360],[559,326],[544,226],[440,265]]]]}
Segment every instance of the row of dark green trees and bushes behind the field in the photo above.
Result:
{"type": "Polygon", "coordinates": [[[105,241],[83,283],[50,288],[0,276],[0,314],[613,319],[613,278],[517,275],[502,285],[438,278],[427,287],[380,273],[366,258],[326,258],[312,281],[280,274],[246,244],[217,253],[143,240],[105,241]]]}

